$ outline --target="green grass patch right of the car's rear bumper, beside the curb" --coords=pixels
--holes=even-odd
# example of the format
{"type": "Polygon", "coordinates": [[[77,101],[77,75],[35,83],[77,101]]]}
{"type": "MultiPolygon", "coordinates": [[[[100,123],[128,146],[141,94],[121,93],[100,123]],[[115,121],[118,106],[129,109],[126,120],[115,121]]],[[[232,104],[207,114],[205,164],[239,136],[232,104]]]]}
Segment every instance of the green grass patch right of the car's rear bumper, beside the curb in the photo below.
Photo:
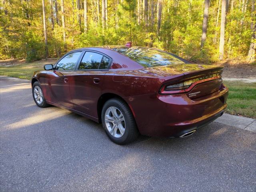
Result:
{"type": "Polygon", "coordinates": [[[256,118],[256,83],[225,81],[229,88],[226,112],[256,118]]]}

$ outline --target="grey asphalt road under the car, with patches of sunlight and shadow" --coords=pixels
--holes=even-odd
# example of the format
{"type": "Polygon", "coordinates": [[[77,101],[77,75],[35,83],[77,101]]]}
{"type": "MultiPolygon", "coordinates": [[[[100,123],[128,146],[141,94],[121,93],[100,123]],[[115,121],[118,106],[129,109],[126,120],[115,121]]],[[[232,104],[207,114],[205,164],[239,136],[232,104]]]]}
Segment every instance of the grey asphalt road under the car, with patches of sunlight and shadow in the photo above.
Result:
{"type": "Polygon", "coordinates": [[[0,191],[256,191],[254,132],[213,122],[118,146],[100,124],[37,107],[28,81],[0,88],[0,191]]]}

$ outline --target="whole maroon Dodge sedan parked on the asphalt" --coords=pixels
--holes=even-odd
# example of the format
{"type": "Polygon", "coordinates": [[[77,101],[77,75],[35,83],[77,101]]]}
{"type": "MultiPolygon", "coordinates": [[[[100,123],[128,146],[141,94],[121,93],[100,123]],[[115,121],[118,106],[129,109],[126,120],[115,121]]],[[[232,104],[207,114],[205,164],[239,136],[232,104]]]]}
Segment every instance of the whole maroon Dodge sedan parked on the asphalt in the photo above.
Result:
{"type": "Polygon", "coordinates": [[[80,48],[44,69],[32,78],[36,104],[102,122],[117,144],[132,142],[139,133],[189,136],[227,106],[223,67],[192,64],[154,48],[80,48]]]}

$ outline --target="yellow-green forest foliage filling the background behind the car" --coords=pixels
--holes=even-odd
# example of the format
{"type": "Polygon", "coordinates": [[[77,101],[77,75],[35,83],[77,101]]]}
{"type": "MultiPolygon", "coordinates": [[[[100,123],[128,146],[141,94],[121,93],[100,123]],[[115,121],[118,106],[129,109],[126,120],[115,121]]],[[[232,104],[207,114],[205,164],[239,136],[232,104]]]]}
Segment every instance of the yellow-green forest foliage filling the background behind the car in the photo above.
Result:
{"type": "MultiPolygon", "coordinates": [[[[84,32],[83,27],[83,0],[80,0],[81,10],[77,10],[76,1],[64,1],[65,29],[62,28],[60,0],[57,0],[59,25],[56,22],[54,4],[54,27],[51,22],[50,3],[45,1],[49,57],[60,57],[64,52],[80,47],[124,45],[131,38],[133,45],[154,46],[194,62],[210,63],[218,60],[220,14],[218,23],[216,21],[219,0],[211,0],[207,38],[202,49],[200,41],[204,0],[163,0],[159,35],[157,35],[157,0],[148,0],[151,1],[154,1],[153,25],[151,21],[146,24],[142,14],[142,4],[140,4],[140,15],[138,14],[137,0],[108,0],[108,20],[106,27],[102,28],[102,1],[99,1],[98,16],[94,4],[96,1],[87,0],[87,32],[84,32]],[[81,19],[80,26],[78,14],[81,19]],[[63,41],[63,31],[66,32],[66,42],[63,41]]],[[[4,2],[5,4],[0,5],[0,59],[26,58],[32,61],[42,58],[45,50],[42,2],[40,0],[4,2]]],[[[150,3],[148,6],[148,20],[150,20],[150,3]]],[[[250,25],[256,19],[251,14],[250,0],[246,1],[245,6],[246,11],[242,11],[242,1],[234,1],[234,4],[230,1],[225,30],[226,58],[244,59],[248,54],[252,36],[250,25]]]]}

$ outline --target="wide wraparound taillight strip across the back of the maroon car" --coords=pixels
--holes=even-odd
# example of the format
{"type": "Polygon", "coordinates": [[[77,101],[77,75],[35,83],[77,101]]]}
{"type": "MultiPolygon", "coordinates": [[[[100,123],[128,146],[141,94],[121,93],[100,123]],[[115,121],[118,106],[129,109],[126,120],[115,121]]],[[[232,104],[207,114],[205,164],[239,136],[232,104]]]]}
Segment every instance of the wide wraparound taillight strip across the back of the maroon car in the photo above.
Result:
{"type": "Polygon", "coordinates": [[[159,92],[161,94],[184,93],[190,91],[196,84],[219,78],[221,78],[219,73],[208,74],[204,76],[193,76],[190,78],[185,78],[182,82],[166,83],[160,88],[159,92]]]}

